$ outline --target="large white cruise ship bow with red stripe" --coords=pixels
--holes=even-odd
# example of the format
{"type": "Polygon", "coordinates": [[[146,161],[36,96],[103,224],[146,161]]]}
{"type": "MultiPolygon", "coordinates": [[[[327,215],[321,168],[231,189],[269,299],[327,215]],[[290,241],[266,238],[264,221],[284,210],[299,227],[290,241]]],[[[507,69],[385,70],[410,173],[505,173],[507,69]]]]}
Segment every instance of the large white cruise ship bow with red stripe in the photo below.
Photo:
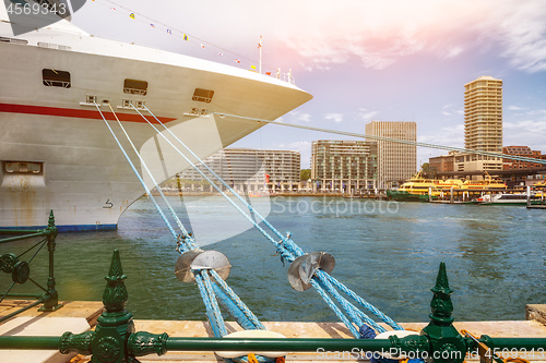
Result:
{"type": "Polygon", "coordinates": [[[189,165],[144,120],[163,128],[146,108],[205,158],[264,124],[252,118],[275,120],[312,98],[293,82],[104,39],[67,20],[37,29],[19,24],[28,32],[14,35],[0,5],[0,21],[4,229],[43,227],[49,210],[60,230],[117,228],[144,190],[103,114],[152,189],[116,116],[162,182],[189,165]]]}

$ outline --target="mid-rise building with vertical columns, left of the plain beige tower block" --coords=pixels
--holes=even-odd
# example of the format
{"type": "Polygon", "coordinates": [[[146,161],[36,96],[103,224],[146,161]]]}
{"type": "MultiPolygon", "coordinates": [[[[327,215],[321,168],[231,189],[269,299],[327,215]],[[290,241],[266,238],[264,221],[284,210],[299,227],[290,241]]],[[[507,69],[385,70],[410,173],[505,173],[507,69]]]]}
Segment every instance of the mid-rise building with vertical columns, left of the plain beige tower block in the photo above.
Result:
{"type": "Polygon", "coordinates": [[[319,140],[311,147],[314,190],[355,193],[378,186],[376,143],[319,140]]]}

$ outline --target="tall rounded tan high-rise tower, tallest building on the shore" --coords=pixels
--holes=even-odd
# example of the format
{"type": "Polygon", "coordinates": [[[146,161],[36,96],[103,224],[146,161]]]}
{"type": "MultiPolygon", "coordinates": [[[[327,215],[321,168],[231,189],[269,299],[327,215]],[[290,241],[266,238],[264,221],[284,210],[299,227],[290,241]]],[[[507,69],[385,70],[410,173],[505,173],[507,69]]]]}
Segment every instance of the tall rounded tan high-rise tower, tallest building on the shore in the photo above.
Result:
{"type": "MultiPolygon", "coordinates": [[[[464,147],[502,152],[502,81],[480,76],[464,85],[464,147]]],[[[456,171],[501,170],[502,159],[476,154],[455,158],[456,171]]]]}

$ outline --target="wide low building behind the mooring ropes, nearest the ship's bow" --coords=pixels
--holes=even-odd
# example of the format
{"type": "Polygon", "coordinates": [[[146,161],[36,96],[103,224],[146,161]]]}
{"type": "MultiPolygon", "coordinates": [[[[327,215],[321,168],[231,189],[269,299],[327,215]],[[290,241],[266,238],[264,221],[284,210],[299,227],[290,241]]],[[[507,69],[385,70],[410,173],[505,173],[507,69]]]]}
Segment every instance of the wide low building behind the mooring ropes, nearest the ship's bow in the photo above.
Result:
{"type": "MultiPolygon", "coordinates": [[[[236,191],[252,192],[299,187],[300,159],[298,152],[226,148],[203,161],[236,191]]],[[[204,168],[200,170],[210,177],[204,168]]],[[[194,169],[185,170],[180,178],[191,189],[204,184],[204,178],[194,169]]]]}

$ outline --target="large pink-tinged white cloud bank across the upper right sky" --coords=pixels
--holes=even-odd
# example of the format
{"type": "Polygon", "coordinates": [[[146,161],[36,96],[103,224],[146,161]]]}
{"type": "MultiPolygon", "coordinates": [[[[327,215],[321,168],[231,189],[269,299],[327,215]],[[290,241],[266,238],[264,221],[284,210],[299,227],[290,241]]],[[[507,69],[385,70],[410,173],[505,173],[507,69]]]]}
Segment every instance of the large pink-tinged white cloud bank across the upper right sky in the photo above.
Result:
{"type": "Polygon", "coordinates": [[[495,0],[349,0],[336,7],[300,0],[289,2],[289,8],[277,28],[307,69],[330,69],[356,58],[364,68],[381,70],[416,53],[450,59],[472,48],[498,45],[500,55],[517,69],[546,70],[543,0],[501,4],[495,0]]]}

